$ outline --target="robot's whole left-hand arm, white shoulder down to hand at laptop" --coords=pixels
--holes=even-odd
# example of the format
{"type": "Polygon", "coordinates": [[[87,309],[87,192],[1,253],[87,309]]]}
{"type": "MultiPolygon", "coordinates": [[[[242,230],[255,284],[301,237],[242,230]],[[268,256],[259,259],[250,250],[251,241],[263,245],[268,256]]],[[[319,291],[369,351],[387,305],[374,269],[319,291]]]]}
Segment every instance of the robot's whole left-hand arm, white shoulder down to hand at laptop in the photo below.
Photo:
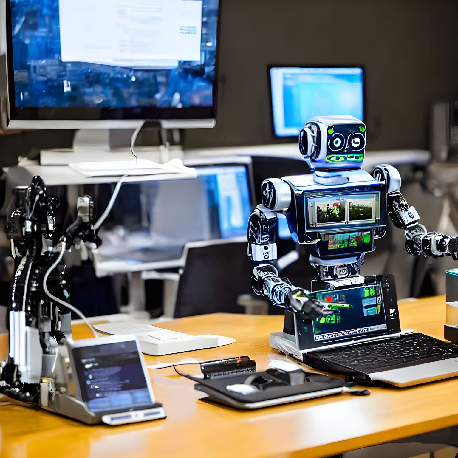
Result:
{"type": "Polygon", "coordinates": [[[262,202],[263,205],[258,205],[248,220],[248,256],[252,261],[262,262],[253,269],[251,285],[254,292],[274,305],[304,313],[312,320],[332,314],[326,302],[309,297],[309,291],[292,285],[287,278],[279,278],[272,265],[277,259],[275,212],[288,210],[291,202],[289,185],[278,178],[265,180],[262,202]]]}

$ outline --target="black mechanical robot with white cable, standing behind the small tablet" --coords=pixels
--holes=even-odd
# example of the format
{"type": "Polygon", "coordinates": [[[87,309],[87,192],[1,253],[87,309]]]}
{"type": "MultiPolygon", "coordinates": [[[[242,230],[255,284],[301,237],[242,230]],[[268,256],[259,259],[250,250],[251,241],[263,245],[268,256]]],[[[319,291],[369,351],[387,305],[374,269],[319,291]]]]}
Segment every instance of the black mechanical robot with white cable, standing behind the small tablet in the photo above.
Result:
{"type": "Polygon", "coordinates": [[[71,338],[70,310],[76,310],[68,304],[69,275],[62,256],[73,245],[96,248],[102,241],[92,228],[97,212],[90,196],[78,197],[76,221],[62,234],[55,221],[59,201],[48,196],[39,176],[14,193],[15,210],[6,223],[15,259],[7,310],[10,354],[0,368],[0,393],[34,402],[40,379],[56,378],[58,349],[71,338]]]}

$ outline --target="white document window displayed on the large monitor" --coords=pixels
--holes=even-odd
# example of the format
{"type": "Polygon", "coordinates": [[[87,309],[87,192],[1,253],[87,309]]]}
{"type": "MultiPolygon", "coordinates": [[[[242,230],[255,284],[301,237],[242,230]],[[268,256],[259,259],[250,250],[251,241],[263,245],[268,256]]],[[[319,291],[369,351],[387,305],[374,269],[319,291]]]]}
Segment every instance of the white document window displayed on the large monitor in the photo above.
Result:
{"type": "Polygon", "coordinates": [[[202,0],[59,0],[63,62],[166,69],[201,60],[202,0]]]}

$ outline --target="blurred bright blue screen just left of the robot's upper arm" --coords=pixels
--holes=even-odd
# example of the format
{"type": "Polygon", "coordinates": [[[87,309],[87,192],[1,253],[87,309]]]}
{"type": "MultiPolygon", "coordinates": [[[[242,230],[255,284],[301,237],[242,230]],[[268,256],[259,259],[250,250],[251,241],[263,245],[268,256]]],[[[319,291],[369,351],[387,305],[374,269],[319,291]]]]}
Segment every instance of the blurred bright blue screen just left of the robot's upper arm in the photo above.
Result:
{"type": "MultiPolygon", "coordinates": [[[[218,212],[221,239],[246,235],[251,214],[250,192],[246,168],[242,165],[197,168],[197,177],[202,178],[210,211],[210,224],[216,223],[218,212]]],[[[213,228],[212,228],[213,232],[213,228]]]]}

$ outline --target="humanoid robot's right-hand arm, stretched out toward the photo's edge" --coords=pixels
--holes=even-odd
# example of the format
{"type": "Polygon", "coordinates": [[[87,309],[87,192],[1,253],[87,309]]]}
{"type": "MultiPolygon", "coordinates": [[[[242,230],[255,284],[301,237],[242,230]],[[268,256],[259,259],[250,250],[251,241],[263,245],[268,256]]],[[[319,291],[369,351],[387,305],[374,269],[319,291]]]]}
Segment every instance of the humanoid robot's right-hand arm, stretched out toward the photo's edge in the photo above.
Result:
{"type": "Polygon", "coordinates": [[[418,222],[420,216],[417,211],[414,207],[409,207],[399,191],[401,177],[398,170],[391,165],[383,164],[378,165],[372,175],[387,185],[388,215],[397,228],[404,229],[405,249],[408,253],[414,256],[423,253],[426,257],[434,258],[445,254],[452,256],[455,261],[458,260],[458,237],[434,231],[427,232],[425,226],[418,222]]]}

